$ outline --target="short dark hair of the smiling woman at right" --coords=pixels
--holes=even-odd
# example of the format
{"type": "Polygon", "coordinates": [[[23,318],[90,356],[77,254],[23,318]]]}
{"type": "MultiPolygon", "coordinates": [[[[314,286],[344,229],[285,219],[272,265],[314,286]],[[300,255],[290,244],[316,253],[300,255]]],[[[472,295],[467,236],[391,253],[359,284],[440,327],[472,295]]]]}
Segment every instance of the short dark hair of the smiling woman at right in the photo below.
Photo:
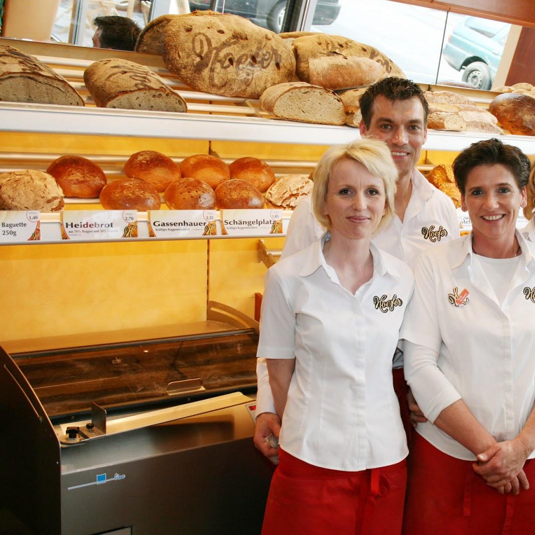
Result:
{"type": "Polygon", "coordinates": [[[493,137],[472,143],[453,161],[453,174],[459,191],[464,194],[468,174],[474,167],[494,164],[501,164],[513,173],[518,189],[528,184],[531,166],[529,158],[518,147],[505,145],[493,137]]]}

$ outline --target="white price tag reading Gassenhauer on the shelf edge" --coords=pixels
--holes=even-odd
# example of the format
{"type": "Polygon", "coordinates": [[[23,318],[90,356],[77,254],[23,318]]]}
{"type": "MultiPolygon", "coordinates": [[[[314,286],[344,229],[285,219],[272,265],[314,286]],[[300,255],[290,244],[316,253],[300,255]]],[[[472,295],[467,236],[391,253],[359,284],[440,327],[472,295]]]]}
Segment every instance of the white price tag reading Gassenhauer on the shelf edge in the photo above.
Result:
{"type": "Polygon", "coordinates": [[[215,236],[217,215],[217,210],[151,210],[149,236],[151,238],[215,236]]]}

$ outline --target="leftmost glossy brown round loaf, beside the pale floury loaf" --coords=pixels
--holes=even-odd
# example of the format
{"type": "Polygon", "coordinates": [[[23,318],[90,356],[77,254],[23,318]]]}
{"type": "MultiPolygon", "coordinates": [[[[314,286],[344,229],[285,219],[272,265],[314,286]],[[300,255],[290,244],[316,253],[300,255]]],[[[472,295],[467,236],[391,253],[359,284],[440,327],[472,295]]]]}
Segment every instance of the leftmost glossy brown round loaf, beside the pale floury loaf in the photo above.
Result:
{"type": "Polygon", "coordinates": [[[102,169],[81,156],[61,156],[47,169],[67,197],[95,198],[106,185],[102,169]]]}

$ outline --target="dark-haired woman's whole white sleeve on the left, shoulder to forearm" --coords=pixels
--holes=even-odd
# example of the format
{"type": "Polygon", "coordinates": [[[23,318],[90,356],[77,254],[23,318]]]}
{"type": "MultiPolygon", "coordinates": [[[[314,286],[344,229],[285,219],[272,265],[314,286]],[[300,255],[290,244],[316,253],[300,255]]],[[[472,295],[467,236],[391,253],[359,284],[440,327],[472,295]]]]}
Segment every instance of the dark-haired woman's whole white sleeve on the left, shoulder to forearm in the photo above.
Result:
{"type": "Polygon", "coordinates": [[[442,334],[435,272],[428,254],[418,257],[414,276],[415,291],[405,311],[400,334],[405,340],[404,375],[418,406],[433,423],[440,412],[461,399],[461,395],[438,367],[442,334]]]}

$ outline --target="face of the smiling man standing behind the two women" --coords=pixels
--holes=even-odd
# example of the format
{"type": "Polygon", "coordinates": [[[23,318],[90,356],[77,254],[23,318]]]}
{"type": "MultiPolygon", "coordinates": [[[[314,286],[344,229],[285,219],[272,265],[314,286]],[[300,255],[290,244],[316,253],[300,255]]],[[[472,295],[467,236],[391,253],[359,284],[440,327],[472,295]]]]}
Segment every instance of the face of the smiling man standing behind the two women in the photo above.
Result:
{"type": "Polygon", "coordinates": [[[399,178],[406,177],[418,163],[427,139],[424,106],[418,97],[391,101],[383,95],[372,105],[370,128],[360,125],[361,135],[384,141],[398,167],[399,178]]]}

